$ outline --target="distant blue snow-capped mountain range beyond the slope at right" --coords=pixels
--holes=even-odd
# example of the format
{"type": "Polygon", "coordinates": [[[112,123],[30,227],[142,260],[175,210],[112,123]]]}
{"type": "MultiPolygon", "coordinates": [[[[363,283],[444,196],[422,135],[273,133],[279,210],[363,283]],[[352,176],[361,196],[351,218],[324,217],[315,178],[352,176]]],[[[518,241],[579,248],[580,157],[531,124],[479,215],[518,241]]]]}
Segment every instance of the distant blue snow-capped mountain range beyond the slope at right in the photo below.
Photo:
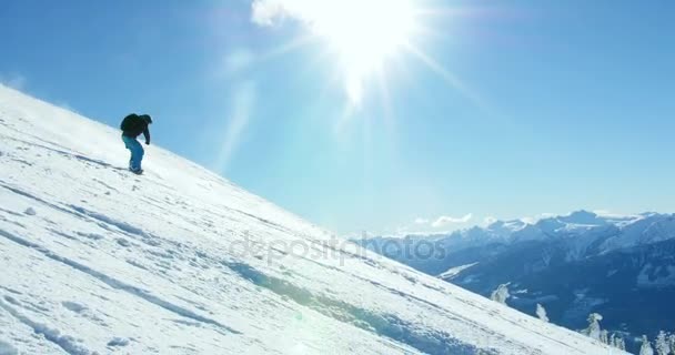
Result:
{"type": "Polygon", "coordinates": [[[551,322],[572,329],[585,327],[597,312],[604,327],[629,339],[675,331],[673,214],[577,211],[535,223],[497,221],[450,235],[360,243],[485,296],[510,283],[511,306],[534,315],[543,304],[551,322]]]}

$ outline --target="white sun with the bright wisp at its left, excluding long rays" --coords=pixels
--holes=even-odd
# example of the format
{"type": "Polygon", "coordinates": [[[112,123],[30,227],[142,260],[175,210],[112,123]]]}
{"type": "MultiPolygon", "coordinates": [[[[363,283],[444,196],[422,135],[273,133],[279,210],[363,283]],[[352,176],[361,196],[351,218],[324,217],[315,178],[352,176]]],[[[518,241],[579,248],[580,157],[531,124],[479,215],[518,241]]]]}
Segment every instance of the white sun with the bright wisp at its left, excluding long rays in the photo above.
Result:
{"type": "Polygon", "coordinates": [[[284,45],[280,52],[308,39],[323,41],[331,62],[340,65],[351,105],[356,106],[366,82],[373,74],[385,72],[387,60],[403,52],[424,55],[413,43],[417,34],[427,32],[417,22],[424,13],[419,7],[420,0],[253,0],[252,20],[261,26],[299,20],[310,36],[284,45]]]}

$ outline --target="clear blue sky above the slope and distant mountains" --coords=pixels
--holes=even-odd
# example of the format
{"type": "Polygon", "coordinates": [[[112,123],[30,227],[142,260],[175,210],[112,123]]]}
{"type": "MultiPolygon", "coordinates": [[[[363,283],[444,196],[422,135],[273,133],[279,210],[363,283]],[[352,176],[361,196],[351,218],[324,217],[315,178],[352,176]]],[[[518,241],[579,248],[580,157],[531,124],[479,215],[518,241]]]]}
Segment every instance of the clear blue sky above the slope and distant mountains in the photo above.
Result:
{"type": "Polygon", "coordinates": [[[114,126],[150,113],[157,144],[338,233],[675,212],[674,1],[419,0],[423,57],[389,53],[357,103],[325,19],[270,9],[6,0],[0,80],[114,126]]]}

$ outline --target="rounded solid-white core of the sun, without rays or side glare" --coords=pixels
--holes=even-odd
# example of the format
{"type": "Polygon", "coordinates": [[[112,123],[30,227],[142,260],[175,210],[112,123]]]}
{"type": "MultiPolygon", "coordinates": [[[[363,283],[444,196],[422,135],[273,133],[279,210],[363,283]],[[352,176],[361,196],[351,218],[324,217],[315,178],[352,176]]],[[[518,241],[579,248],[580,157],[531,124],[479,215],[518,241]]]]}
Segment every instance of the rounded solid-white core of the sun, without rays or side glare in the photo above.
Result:
{"type": "Polygon", "coordinates": [[[366,77],[385,60],[399,54],[415,29],[410,0],[342,0],[316,7],[314,33],[324,38],[344,71],[344,85],[352,104],[363,97],[366,77]]]}

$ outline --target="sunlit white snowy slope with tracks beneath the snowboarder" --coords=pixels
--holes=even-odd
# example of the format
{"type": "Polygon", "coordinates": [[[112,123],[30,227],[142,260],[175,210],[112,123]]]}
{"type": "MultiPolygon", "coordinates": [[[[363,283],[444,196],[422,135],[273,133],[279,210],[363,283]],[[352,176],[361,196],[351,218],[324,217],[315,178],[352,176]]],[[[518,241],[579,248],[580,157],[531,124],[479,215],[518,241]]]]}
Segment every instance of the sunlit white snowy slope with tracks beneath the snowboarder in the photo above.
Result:
{"type": "MultiPolygon", "coordinates": [[[[161,120],[157,120],[161,124],[161,120]]],[[[618,354],[0,87],[2,354],[618,354]]]]}

